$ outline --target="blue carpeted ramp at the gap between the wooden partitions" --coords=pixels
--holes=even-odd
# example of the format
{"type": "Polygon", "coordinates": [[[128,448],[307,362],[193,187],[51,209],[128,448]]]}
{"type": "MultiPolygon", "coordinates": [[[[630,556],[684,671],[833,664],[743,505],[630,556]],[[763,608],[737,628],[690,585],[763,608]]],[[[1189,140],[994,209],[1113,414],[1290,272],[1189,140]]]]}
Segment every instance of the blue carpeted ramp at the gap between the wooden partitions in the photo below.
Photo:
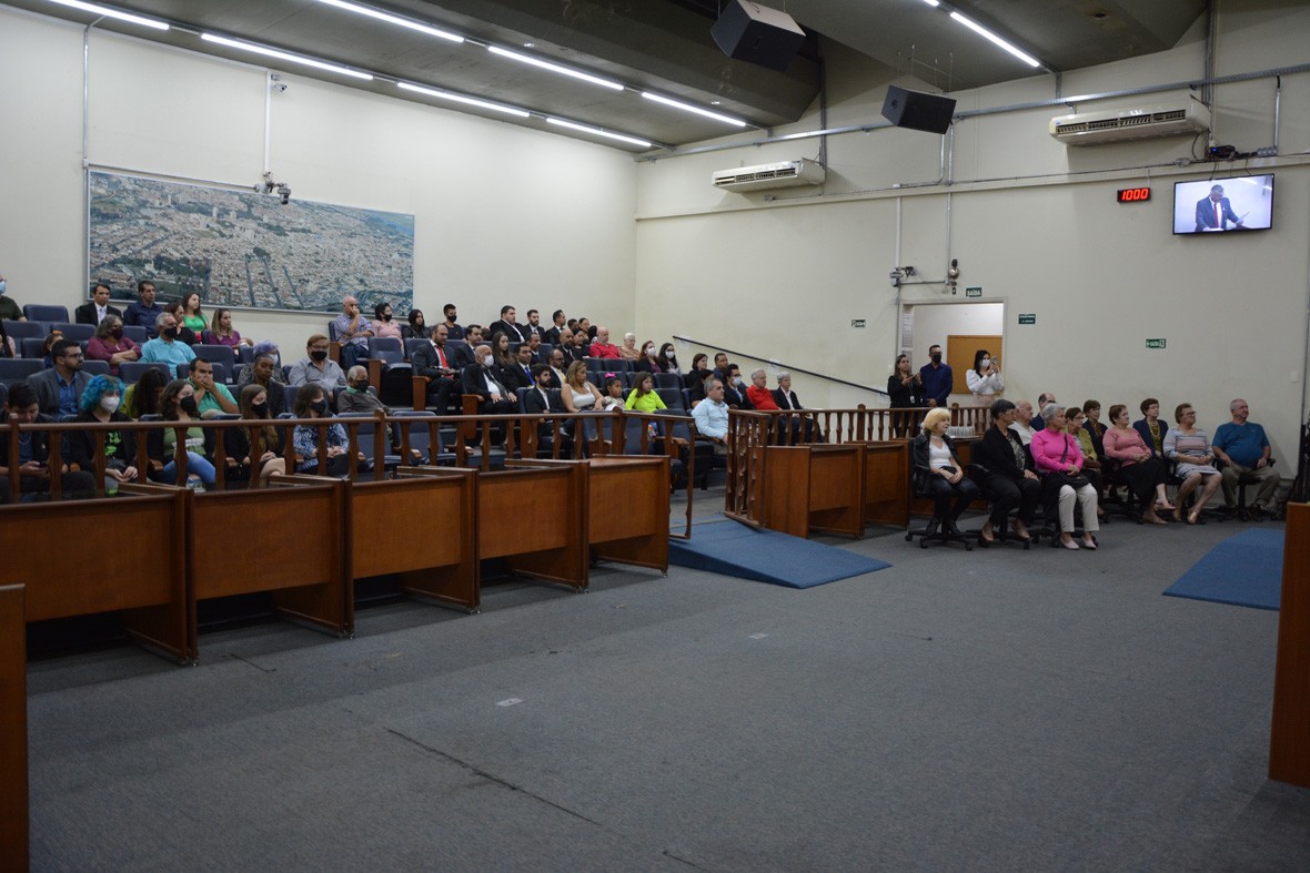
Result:
{"type": "Polygon", "coordinates": [[[692,539],[669,539],[668,561],[787,588],[814,588],[891,567],[845,548],[727,518],[696,525],[692,539]]]}

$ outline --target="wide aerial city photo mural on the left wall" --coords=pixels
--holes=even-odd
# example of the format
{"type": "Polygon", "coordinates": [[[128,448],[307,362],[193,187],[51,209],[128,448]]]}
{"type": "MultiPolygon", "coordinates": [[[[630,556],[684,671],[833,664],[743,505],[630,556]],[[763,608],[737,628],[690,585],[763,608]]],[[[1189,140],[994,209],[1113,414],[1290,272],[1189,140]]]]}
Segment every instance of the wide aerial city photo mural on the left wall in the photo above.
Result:
{"type": "Polygon", "coordinates": [[[365,314],[414,302],[414,216],[272,194],[88,173],[92,281],[161,298],[199,292],[206,306],[365,314]]]}

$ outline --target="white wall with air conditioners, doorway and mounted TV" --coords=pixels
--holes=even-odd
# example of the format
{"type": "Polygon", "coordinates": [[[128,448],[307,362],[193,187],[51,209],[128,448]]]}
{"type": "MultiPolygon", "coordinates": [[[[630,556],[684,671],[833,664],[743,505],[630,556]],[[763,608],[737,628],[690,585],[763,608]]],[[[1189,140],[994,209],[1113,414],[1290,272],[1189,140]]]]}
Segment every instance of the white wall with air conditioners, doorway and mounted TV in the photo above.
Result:
{"type": "MultiPolygon", "coordinates": [[[[1217,73],[1303,63],[1310,7],[1231,0],[1218,9],[1217,73]]],[[[1196,79],[1203,38],[1199,24],[1169,52],[1068,73],[1062,93],[1196,79]]],[[[833,80],[846,60],[833,60],[833,80]]],[[[865,64],[859,73],[865,90],[844,85],[829,126],[880,120],[871,107],[880,106],[892,72],[865,64]]],[[[1036,76],[954,96],[968,110],[1051,99],[1055,92],[1051,77],[1036,76]]],[[[1170,98],[1115,98],[1091,109],[1170,98]]],[[[1214,99],[1220,143],[1239,151],[1271,144],[1272,80],[1220,85],[1214,99]]],[[[1310,274],[1310,75],[1282,80],[1282,157],[1269,161],[1178,168],[1172,162],[1191,153],[1187,137],[1066,148],[1047,135],[1049,119],[1065,111],[959,122],[950,187],[892,187],[939,174],[942,139],[900,130],[829,137],[825,188],[782,191],[772,202],[717,191],[710,173],[814,157],[816,140],[642,164],[637,319],[660,335],[685,325],[684,313],[694,309],[697,338],[707,343],[757,355],[777,349],[790,364],[883,386],[899,344],[888,272],[914,264],[921,277],[941,280],[958,258],[960,294],[982,285],[984,298],[1006,304],[1007,395],[1055,390],[1134,410],[1154,395],[1170,412],[1187,401],[1210,431],[1227,419],[1229,401],[1242,395],[1290,471],[1310,274]],[[1171,234],[1175,179],[1265,171],[1259,168],[1277,174],[1273,230],[1171,234]],[[1154,186],[1151,202],[1115,203],[1119,187],[1140,183],[1154,186]],[[1038,323],[1018,326],[1019,313],[1035,313],[1038,323]],[[852,318],[867,318],[869,327],[852,330],[852,318]],[[1146,349],[1148,338],[1165,338],[1167,348],[1146,349]]],[[[812,114],[777,132],[816,127],[812,114]]],[[[907,304],[950,298],[942,285],[901,291],[907,304]]],[[[798,376],[795,382],[811,406],[853,397],[817,380],[798,376]]]]}

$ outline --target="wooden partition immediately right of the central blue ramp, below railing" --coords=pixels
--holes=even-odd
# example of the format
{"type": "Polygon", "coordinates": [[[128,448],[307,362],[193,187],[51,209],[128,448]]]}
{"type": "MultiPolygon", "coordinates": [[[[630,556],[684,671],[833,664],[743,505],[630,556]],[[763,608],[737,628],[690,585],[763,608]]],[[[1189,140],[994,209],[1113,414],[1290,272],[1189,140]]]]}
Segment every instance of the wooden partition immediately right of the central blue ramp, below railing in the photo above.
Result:
{"type": "Polygon", "coordinates": [[[764,449],[760,521],[793,537],[865,531],[865,445],[764,449]]]}

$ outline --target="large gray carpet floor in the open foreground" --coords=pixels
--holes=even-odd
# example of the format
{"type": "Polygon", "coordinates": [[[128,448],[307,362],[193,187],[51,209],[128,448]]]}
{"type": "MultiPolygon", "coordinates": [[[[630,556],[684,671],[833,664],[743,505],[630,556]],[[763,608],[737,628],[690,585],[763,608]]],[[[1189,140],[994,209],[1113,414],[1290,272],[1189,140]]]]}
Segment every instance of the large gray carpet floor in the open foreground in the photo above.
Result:
{"type": "Polygon", "coordinates": [[[1277,614],[1161,596],[1239,529],[870,529],[824,542],[892,568],[810,590],[600,567],[37,661],[33,869],[1306,870],[1277,614]]]}

